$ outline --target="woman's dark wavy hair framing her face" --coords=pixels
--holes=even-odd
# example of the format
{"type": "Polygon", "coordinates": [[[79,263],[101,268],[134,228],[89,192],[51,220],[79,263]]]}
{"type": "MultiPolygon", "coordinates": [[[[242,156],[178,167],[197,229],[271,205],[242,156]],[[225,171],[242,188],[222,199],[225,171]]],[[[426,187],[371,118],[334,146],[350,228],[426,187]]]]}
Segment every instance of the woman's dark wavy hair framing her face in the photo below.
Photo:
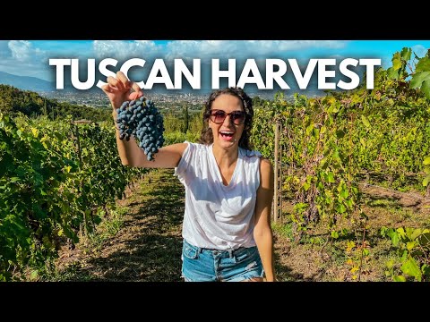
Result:
{"type": "Polygon", "coordinates": [[[244,107],[244,111],[246,114],[245,117],[245,123],[244,123],[244,131],[242,132],[242,136],[239,140],[239,147],[245,148],[245,149],[252,149],[251,143],[249,142],[249,138],[251,136],[251,128],[253,127],[253,116],[254,116],[254,109],[253,109],[253,100],[251,97],[248,97],[244,91],[244,89],[241,88],[226,88],[226,89],[219,89],[217,91],[214,91],[211,93],[211,96],[208,98],[208,100],[204,103],[204,112],[203,112],[203,128],[202,128],[202,134],[200,136],[199,143],[209,145],[213,143],[213,133],[212,129],[209,126],[209,117],[211,115],[211,108],[213,101],[219,97],[222,94],[231,95],[234,97],[237,97],[242,102],[242,106],[244,107]]]}

